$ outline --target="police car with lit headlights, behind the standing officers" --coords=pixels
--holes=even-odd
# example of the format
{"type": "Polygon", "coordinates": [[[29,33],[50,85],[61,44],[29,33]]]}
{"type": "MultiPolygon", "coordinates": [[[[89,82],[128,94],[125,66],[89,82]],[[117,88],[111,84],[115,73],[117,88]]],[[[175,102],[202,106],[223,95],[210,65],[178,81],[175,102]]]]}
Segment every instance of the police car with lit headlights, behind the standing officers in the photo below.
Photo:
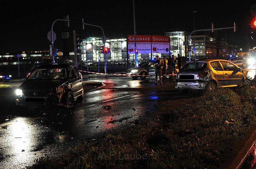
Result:
{"type": "MultiPolygon", "coordinates": [[[[175,65],[176,72],[179,72],[178,66],[175,65]]],[[[133,79],[137,79],[140,77],[140,79],[144,80],[146,79],[147,75],[155,75],[155,68],[154,68],[154,62],[148,61],[146,63],[143,63],[139,67],[134,67],[131,69],[128,69],[126,72],[126,76],[130,76],[133,79]],[[137,75],[137,76],[132,76],[137,75]]]]}

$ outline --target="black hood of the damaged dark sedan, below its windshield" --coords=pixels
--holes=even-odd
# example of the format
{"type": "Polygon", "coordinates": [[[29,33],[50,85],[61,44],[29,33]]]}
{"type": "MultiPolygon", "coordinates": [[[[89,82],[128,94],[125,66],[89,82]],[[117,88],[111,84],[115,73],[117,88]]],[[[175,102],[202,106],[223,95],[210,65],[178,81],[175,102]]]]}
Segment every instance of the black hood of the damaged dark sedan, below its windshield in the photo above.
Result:
{"type": "Polygon", "coordinates": [[[19,89],[21,90],[51,90],[59,85],[62,85],[66,80],[30,80],[23,82],[19,89]]]}

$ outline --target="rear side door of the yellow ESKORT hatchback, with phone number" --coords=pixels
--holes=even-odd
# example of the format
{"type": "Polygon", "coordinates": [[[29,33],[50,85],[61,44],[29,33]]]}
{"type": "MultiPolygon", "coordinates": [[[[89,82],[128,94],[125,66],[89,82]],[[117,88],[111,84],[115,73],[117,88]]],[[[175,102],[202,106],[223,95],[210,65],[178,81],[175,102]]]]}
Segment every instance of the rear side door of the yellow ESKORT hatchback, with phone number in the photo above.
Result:
{"type": "Polygon", "coordinates": [[[217,82],[217,87],[223,86],[224,85],[224,77],[223,77],[223,70],[220,65],[219,61],[213,61],[210,63],[211,67],[213,68],[213,79],[216,80],[217,82]]]}

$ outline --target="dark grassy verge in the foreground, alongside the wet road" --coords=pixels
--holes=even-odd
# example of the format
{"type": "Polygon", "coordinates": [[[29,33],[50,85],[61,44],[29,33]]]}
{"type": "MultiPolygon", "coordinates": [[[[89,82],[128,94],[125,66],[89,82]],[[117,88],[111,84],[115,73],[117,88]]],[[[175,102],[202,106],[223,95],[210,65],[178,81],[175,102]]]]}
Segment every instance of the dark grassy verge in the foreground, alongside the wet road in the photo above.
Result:
{"type": "Polygon", "coordinates": [[[256,89],[218,89],[180,110],[37,160],[32,168],[217,168],[255,123],[256,89]]]}

